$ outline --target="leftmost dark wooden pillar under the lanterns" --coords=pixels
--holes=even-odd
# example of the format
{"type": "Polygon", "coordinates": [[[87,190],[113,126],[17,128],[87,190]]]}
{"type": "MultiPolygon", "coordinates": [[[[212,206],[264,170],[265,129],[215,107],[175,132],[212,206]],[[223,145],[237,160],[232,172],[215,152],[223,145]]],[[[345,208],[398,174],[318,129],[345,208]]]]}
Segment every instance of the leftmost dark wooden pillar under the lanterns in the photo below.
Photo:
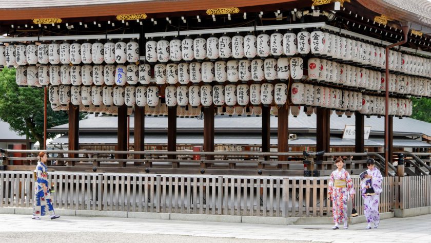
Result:
{"type": "MultiPolygon", "coordinates": [[[[80,106],[69,104],[69,150],[80,149],[80,106]]],[[[77,158],[78,154],[69,154],[69,158],[77,158]]],[[[75,161],[68,161],[68,166],[75,165],[75,161]]]]}

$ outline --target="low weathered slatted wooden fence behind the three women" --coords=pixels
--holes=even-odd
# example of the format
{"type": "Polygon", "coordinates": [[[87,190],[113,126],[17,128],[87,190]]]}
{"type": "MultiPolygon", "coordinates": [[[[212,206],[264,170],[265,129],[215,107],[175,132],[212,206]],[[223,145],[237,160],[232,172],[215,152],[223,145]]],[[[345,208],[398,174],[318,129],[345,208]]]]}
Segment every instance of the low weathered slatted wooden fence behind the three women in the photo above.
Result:
{"type": "MultiPolygon", "coordinates": [[[[55,208],[268,217],[330,217],[327,177],[49,173],[55,208]]],[[[385,177],[380,212],[431,205],[431,176],[385,177]]],[[[363,214],[359,178],[354,204],[363,214]]],[[[31,208],[30,172],[0,172],[0,207],[31,208]]]]}

